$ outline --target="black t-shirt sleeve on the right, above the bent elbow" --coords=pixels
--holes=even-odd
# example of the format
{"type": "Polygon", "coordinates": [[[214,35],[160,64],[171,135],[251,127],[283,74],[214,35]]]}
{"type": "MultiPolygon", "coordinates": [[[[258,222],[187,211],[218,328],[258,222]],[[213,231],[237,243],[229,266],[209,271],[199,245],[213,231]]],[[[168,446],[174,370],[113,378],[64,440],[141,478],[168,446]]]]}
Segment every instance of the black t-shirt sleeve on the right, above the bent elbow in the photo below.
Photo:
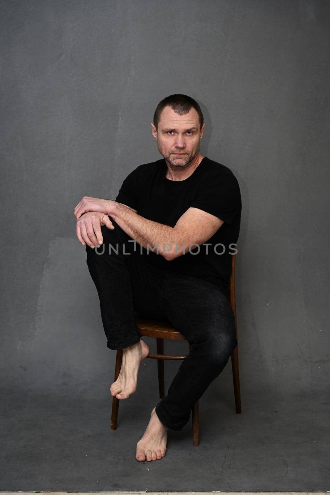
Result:
{"type": "Polygon", "coordinates": [[[203,180],[190,204],[231,224],[241,211],[239,184],[234,174],[219,174],[203,180]]]}

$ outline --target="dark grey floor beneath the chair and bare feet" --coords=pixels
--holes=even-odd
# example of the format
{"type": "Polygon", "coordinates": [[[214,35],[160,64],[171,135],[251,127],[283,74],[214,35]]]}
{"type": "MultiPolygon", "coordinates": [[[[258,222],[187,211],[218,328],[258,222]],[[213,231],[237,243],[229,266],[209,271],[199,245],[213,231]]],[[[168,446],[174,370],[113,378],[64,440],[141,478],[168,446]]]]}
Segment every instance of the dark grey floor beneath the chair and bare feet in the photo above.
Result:
{"type": "Polygon", "coordinates": [[[136,443],[159,400],[156,385],[146,386],[149,362],[136,394],[120,403],[115,431],[106,378],[85,391],[2,389],[0,490],[329,490],[329,397],[245,387],[237,415],[228,365],[200,400],[200,445],[192,445],[189,422],[169,431],[163,459],[136,461],[136,443]]]}

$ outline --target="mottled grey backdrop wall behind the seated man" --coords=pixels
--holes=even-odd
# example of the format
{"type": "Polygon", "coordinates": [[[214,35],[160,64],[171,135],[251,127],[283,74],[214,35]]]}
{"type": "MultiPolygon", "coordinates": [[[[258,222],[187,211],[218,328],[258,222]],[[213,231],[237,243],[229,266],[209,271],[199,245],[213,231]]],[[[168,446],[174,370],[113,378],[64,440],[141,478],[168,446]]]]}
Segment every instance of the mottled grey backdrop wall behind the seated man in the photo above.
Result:
{"type": "MultiPolygon", "coordinates": [[[[2,0],[1,11],[2,384],[97,396],[112,382],[73,209],[84,195],[114,199],[161,158],[153,112],[184,93],[204,113],[201,153],[241,188],[245,403],[326,394],[329,3],[2,0]]],[[[155,363],[144,370],[156,390],[155,363]]],[[[232,394],[230,372],[216,382],[232,394]]]]}

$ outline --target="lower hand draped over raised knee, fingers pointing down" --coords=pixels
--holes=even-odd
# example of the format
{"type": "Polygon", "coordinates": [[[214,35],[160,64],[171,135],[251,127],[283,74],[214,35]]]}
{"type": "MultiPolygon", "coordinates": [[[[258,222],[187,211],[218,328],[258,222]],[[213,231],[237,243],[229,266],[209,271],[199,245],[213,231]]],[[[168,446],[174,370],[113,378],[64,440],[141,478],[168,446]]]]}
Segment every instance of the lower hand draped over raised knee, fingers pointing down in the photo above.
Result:
{"type": "Polygon", "coordinates": [[[76,232],[81,244],[85,246],[85,242],[89,247],[98,247],[103,244],[103,236],[101,225],[105,225],[108,229],[113,230],[111,220],[105,213],[99,211],[88,211],[82,215],[77,221],[76,232]]]}

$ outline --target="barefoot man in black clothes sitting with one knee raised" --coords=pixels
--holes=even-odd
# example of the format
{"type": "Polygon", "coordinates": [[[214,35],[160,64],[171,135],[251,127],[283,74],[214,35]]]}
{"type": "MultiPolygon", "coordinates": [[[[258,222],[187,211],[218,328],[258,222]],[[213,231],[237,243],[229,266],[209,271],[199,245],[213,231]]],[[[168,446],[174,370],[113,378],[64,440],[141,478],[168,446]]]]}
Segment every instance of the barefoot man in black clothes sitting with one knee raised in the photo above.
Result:
{"type": "Polygon", "coordinates": [[[136,391],[149,353],[135,311],[168,319],[192,345],[168,395],[151,411],[138,461],[165,455],[168,428],[187,424],[193,404],[237,345],[228,284],[240,191],[229,168],[199,153],[204,128],[194,99],[179,94],[161,100],[151,132],[164,158],[133,170],[115,201],[84,197],[74,210],[107,347],[123,349],[111,395],[125,399],[136,391]]]}

